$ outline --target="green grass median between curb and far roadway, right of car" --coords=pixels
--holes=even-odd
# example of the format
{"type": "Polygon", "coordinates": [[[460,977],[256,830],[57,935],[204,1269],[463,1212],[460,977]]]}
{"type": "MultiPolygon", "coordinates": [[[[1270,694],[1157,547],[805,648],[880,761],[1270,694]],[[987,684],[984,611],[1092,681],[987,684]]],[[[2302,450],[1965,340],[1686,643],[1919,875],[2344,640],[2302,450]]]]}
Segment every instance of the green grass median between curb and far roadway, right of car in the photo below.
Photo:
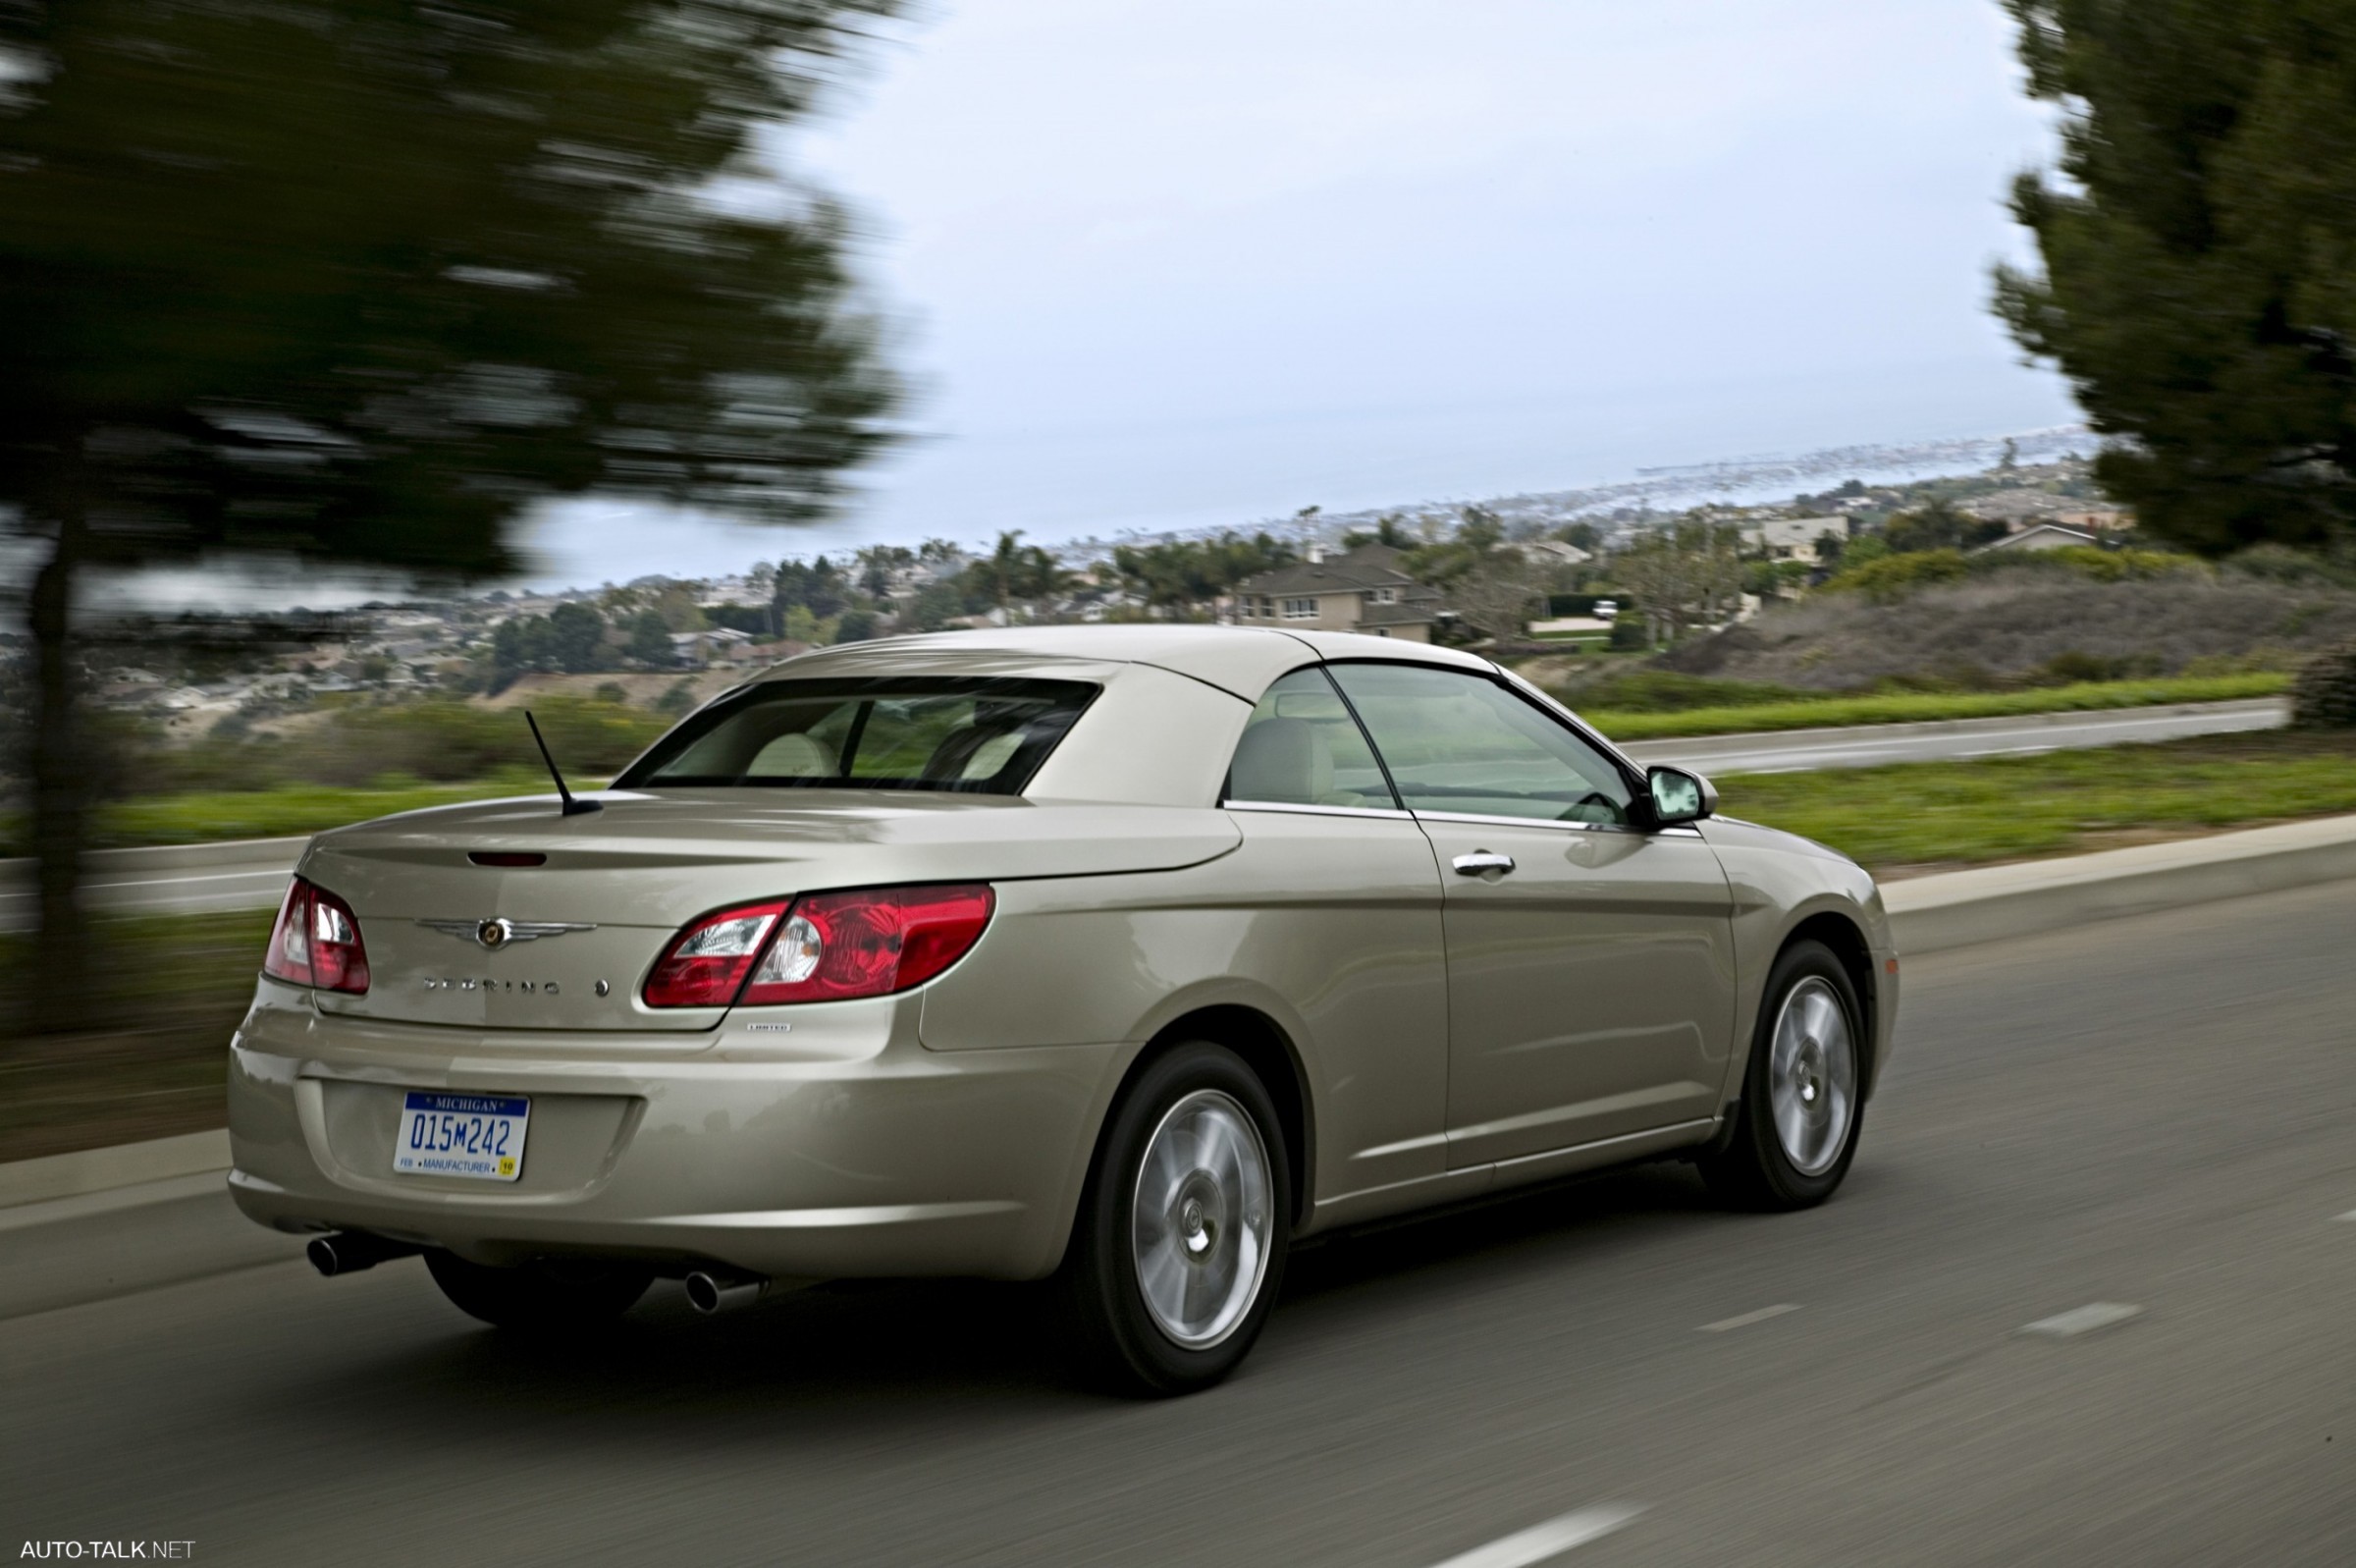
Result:
{"type": "Polygon", "coordinates": [[[1715,783],[1727,816],[1812,837],[1873,870],[1972,865],[2356,811],[2356,733],[2203,736],[1715,783]]]}

